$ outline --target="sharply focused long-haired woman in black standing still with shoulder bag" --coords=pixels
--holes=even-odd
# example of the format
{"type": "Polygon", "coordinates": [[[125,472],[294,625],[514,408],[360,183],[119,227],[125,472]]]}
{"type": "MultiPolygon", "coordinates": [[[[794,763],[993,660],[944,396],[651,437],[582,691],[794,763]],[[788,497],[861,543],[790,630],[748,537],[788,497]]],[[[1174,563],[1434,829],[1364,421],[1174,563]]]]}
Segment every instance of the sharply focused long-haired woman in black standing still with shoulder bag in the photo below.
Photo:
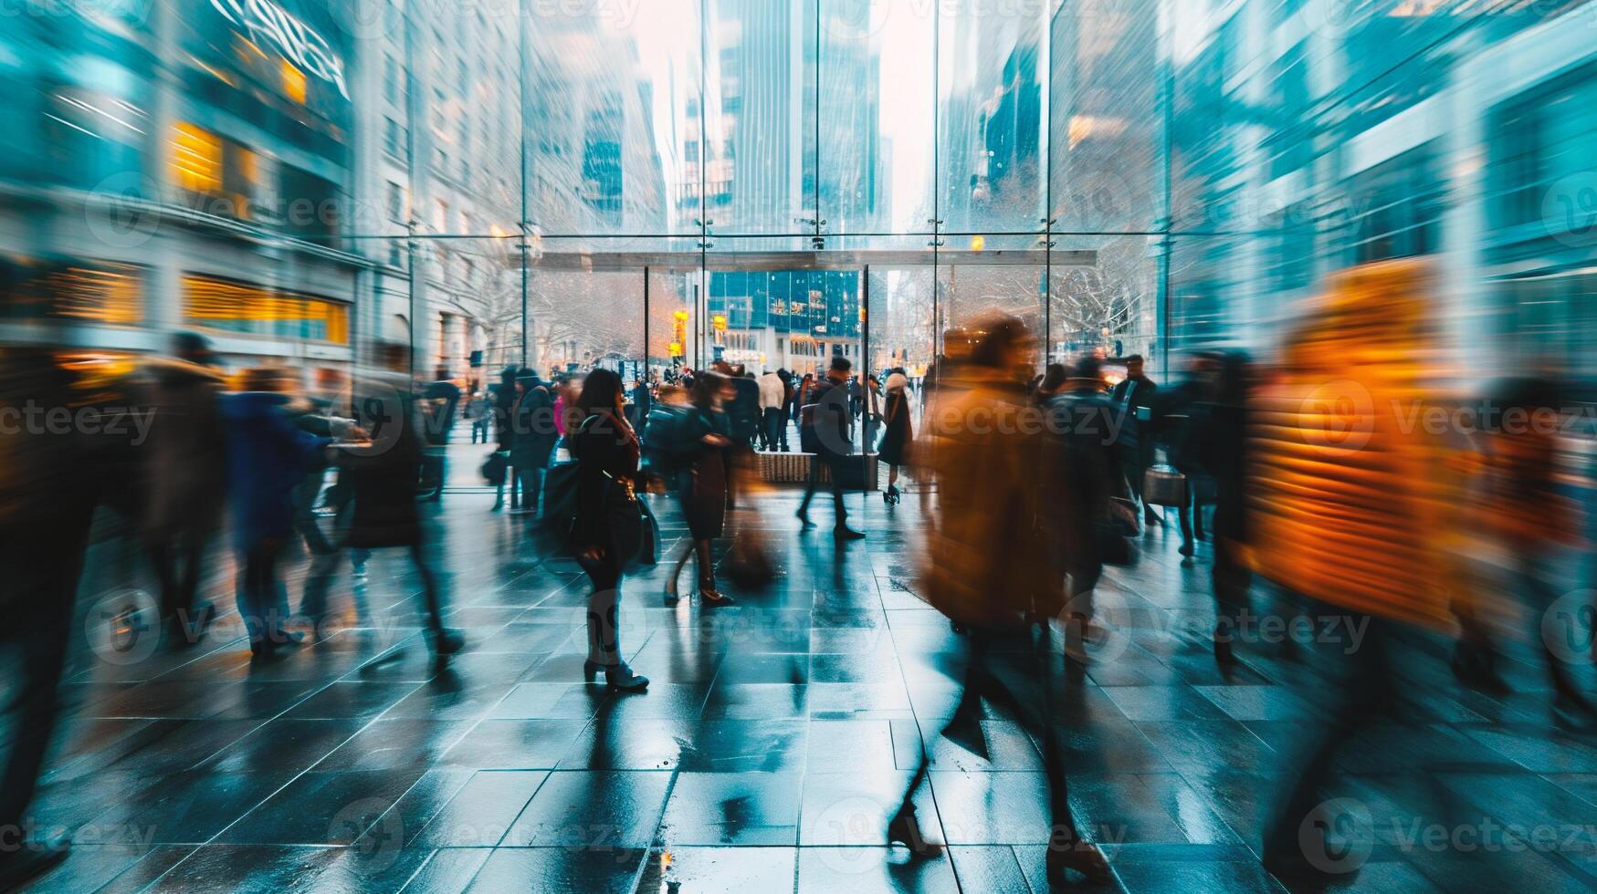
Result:
{"type": "Polygon", "coordinates": [[[626,421],[621,377],[596,369],[572,402],[581,421],[569,429],[567,445],[577,461],[577,519],[572,551],[588,573],[588,661],[592,682],[604,670],[610,688],[644,691],[648,677],[621,659],[621,575],[642,544],[644,514],[637,501],[640,445],[626,421]]]}

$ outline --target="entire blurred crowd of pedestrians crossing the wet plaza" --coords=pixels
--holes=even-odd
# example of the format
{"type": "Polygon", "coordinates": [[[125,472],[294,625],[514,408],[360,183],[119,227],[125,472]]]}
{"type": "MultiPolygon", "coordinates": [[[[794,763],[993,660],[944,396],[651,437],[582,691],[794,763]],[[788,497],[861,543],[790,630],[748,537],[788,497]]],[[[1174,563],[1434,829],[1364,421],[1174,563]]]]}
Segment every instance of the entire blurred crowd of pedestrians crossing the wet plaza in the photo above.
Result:
{"type": "MultiPolygon", "coordinates": [[[[1391,313],[1393,297],[1370,289],[1370,305],[1381,310],[1365,313],[1391,313]]],[[[1348,307],[1338,305],[1337,313],[1353,313],[1348,307]]],[[[1346,366],[1346,356],[1329,361],[1321,338],[1337,326],[1354,326],[1343,316],[1319,319],[1318,335],[1278,367],[1239,351],[1203,351],[1187,359],[1182,382],[1159,386],[1137,356],[1089,353],[1038,375],[1030,366],[1038,346],[1027,326],[992,314],[945,335],[944,353],[918,394],[904,369],[858,375],[842,356],[802,375],[752,375],[717,362],[631,388],[608,369],[548,382],[532,369],[509,367],[493,386],[463,393],[442,372],[415,382],[399,346],[378,346],[382,369],[364,370],[335,393],[305,394],[279,367],[225,375],[198,335],[179,337],[169,358],[150,358],[118,382],[85,390],[48,353],[8,350],[0,378],[5,405],[42,402],[94,413],[147,405],[155,421],[137,445],[81,436],[0,441],[6,469],[0,520],[8,533],[0,538],[0,562],[16,576],[5,599],[8,618],[16,619],[5,645],[21,656],[19,698],[6,706],[11,741],[0,825],[21,824],[45,755],[70,605],[97,506],[125,516],[149,556],[174,648],[198,642],[219,615],[201,599],[200,581],[209,544],[225,532],[238,567],[238,613],[256,659],[271,661],[300,643],[303,631],[291,619],[315,623],[329,611],[345,554],[361,576],[371,551],[404,549],[423,584],[428,643],[447,661],[466,643],[442,623],[426,503],[444,492],[446,449],[455,418],[465,417],[473,444],[492,445],[482,476],[498,487],[493,509],[508,506],[546,535],[540,543],[573,557],[586,573],[585,677],[602,675],[624,693],[648,688],[648,677],[623,658],[620,616],[628,572],[658,538],[652,496],[674,498],[687,525],[677,552],[663,559],[663,602],[687,599],[712,611],[743,597],[722,591],[712,551],[717,540],[738,535],[735,512],[754,503],[759,452],[797,447],[810,455],[797,516],[810,527],[814,495],[830,490],[840,549],[866,536],[850,525],[845,495],[866,487],[854,481],[866,468],[856,460],[875,455],[888,468],[883,496],[890,511],[907,492],[918,495],[920,516],[904,519],[918,541],[917,589],[947,615],[969,650],[963,694],[942,734],[969,741],[984,702],[1014,714],[1041,746],[1052,827],[1049,876],[1104,880],[1108,864],[1078,829],[1067,795],[1067,696],[1059,675],[1080,674],[1091,661],[1084,643],[1108,635],[1094,607],[1105,567],[1135,562],[1139,536],[1166,525],[1166,512],[1175,514],[1188,564],[1201,543],[1212,541],[1212,648],[1222,669],[1241,661],[1239,619],[1268,584],[1316,615],[1345,618],[1349,626],[1373,623],[1383,643],[1433,619],[1450,623],[1458,631],[1453,669],[1460,678],[1503,686],[1480,602],[1456,589],[1437,597],[1433,591],[1453,578],[1426,578],[1412,568],[1402,576],[1388,556],[1426,568],[1434,551],[1394,552],[1409,544],[1373,541],[1362,528],[1343,535],[1338,527],[1338,517],[1357,516],[1359,525],[1375,532],[1418,532],[1415,544],[1426,525],[1463,528],[1456,516],[1413,514],[1436,493],[1418,492],[1412,482],[1402,485],[1412,500],[1386,493],[1393,487],[1378,476],[1388,469],[1361,466],[1389,465],[1412,452],[1380,412],[1356,407],[1354,421],[1369,425],[1354,434],[1373,439],[1367,452],[1316,441],[1326,413],[1305,396],[1305,383],[1327,369],[1357,369],[1346,366]],[[1112,375],[1112,366],[1123,366],[1124,377],[1112,375]],[[85,468],[104,474],[85,476],[85,468]],[[1359,477],[1365,471],[1375,477],[1359,477]],[[1305,546],[1305,538],[1318,543],[1305,546]],[[294,544],[310,556],[297,608],[289,607],[279,576],[294,544]],[[1322,554],[1335,557],[1338,573],[1353,575],[1343,581],[1369,575],[1370,586],[1321,586],[1329,573],[1322,554]],[[690,560],[695,578],[685,597],[680,576],[690,560]],[[1349,595],[1349,589],[1359,592],[1349,595]],[[19,631],[27,635],[19,639],[19,631]]],[[[1370,388],[1385,394],[1378,385],[1370,388]]],[[[1503,405],[1525,415],[1560,404],[1544,380],[1516,380],[1501,394],[1503,405]]],[[[1487,533],[1512,556],[1516,589],[1535,608],[1552,599],[1549,543],[1575,543],[1578,528],[1563,509],[1554,452],[1544,431],[1487,426],[1469,444],[1476,461],[1468,477],[1476,485],[1447,492],[1468,490],[1460,504],[1482,509],[1487,533]]],[[[1326,784],[1337,742],[1367,722],[1383,655],[1381,648],[1349,653],[1343,682],[1327,690],[1332,722],[1313,733],[1310,758],[1287,779],[1263,846],[1266,864],[1281,875],[1313,868],[1302,865],[1300,822],[1326,784]]],[[[1597,720],[1551,653],[1547,667],[1560,722],[1597,720]]],[[[937,849],[915,817],[913,795],[925,782],[923,760],[886,829],[891,841],[917,856],[937,849]]],[[[53,852],[35,849],[27,851],[34,857],[14,859],[53,852]]],[[[16,876],[37,867],[3,868],[16,876]]]]}

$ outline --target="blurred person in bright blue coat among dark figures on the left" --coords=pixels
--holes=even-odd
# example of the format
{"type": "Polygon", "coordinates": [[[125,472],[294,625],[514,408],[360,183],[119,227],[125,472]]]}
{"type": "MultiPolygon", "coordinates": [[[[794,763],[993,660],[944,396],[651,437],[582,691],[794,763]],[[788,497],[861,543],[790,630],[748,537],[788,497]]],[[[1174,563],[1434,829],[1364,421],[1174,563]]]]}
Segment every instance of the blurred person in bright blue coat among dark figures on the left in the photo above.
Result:
{"type": "Polygon", "coordinates": [[[278,559],[294,535],[294,487],[331,444],[294,425],[287,409],[292,385],[286,370],[254,369],[244,374],[243,391],[222,402],[233,548],[244,567],[238,613],[257,658],[294,642],[284,631],[289,611],[278,559]]]}

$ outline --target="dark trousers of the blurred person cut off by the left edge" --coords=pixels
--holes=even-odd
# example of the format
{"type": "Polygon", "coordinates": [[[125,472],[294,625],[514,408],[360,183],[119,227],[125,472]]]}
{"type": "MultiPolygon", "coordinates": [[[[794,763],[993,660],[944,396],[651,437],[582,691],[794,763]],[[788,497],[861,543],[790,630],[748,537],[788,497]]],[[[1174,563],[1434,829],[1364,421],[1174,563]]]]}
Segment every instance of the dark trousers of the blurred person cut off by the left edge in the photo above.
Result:
{"type": "Polygon", "coordinates": [[[70,509],[0,532],[0,830],[22,829],[50,747],[91,517],[70,509]]]}

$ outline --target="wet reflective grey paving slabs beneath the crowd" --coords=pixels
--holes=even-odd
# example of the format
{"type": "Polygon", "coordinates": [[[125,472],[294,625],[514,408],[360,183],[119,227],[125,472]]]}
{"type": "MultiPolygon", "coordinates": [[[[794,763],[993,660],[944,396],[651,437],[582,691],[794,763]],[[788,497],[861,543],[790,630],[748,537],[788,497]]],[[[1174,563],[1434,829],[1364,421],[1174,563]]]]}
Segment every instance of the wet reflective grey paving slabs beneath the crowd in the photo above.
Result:
{"type": "MultiPolygon", "coordinates": [[[[96,546],[35,811],[40,827],[77,829],[78,846],[34,889],[1046,889],[1033,738],[997,707],[985,755],[936,734],[965,640],[913,592],[913,495],[891,511],[853,495],[870,538],[837,546],[824,527],[800,530],[797,490],[760,493],[736,524],[770,541],[781,576],[757,592],[727,584],[733,608],[666,607],[663,568],[629,578],[623,650],[653,685],[613,694],[581,680],[581,575],[535,554],[522,519],[489,511],[481,452],[452,450],[458,487],[434,519],[447,621],[470,640],[442,670],[398,552],[378,552],[366,581],[345,565],[334,619],[271,663],[251,661],[236,616],[190,650],[152,650],[147,635],[89,648],[117,603],[105,597],[144,580],[136,554],[96,546]],[[910,860],[883,827],[921,742],[920,817],[949,848],[910,860]]],[[[669,549],[684,527],[671,501],[655,504],[669,549]]],[[[814,516],[829,511],[822,496],[814,516]]],[[[1156,528],[1139,567],[1108,573],[1105,629],[1059,690],[1072,805],[1116,889],[1597,884],[1597,736],[1552,726],[1528,651],[1504,667],[1516,693],[1488,696],[1425,640],[1393,682],[1401,709],[1338,757],[1359,872],[1302,888],[1262,870],[1270,798],[1319,723],[1322,683],[1289,632],[1260,632],[1220,672],[1207,546],[1183,565],[1177,544],[1174,524],[1156,528]],[[1431,846],[1436,803],[1450,825],[1431,846]],[[1471,848],[1461,822],[1511,832],[1471,848]]],[[[232,568],[214,572],[208,589],[232,610],[232,568]]],[[[297,603],[303,559],[289,572],[297,603]]],[[[1265,594],[1255,607],[1287,611],[1265,594]]]]}

